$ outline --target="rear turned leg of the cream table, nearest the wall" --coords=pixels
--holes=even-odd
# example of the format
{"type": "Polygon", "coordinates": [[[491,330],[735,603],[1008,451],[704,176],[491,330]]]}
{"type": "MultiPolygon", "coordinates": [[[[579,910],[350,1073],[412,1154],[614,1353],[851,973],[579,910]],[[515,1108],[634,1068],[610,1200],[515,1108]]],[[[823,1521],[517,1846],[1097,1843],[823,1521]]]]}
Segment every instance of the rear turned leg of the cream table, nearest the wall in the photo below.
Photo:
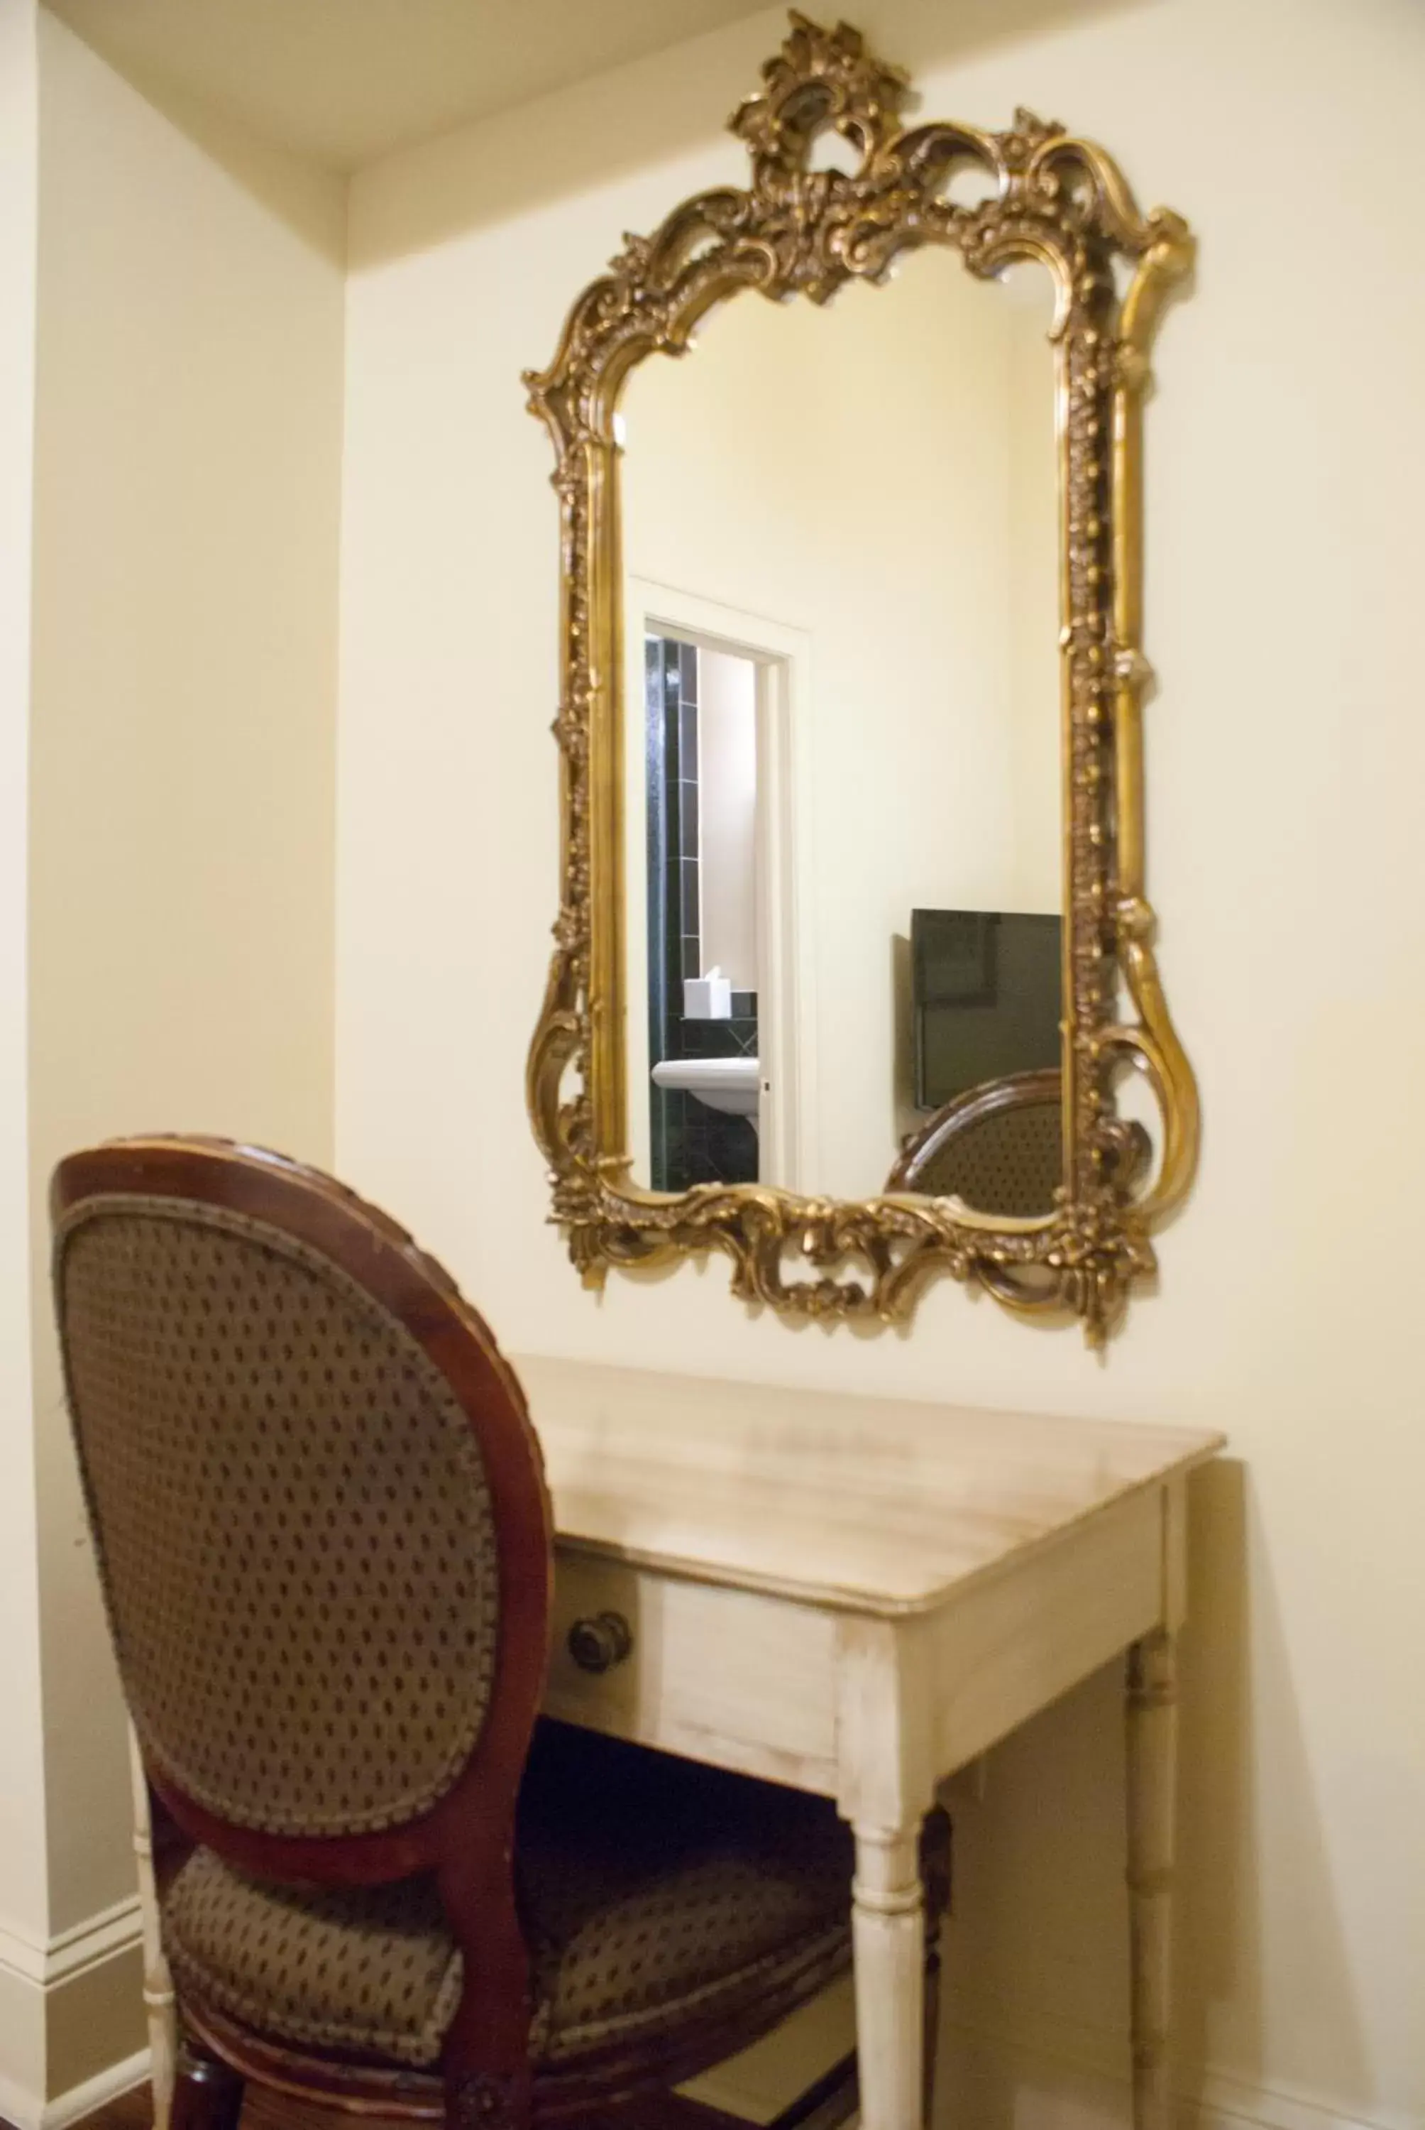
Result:
{"type": "Polygon", "coordinates": [[[1129,1938],[1133,2130],[1172,2130],[1172,1877],[1178,1774],[1174,1636],[1129,1651],[1129,1938]]]}

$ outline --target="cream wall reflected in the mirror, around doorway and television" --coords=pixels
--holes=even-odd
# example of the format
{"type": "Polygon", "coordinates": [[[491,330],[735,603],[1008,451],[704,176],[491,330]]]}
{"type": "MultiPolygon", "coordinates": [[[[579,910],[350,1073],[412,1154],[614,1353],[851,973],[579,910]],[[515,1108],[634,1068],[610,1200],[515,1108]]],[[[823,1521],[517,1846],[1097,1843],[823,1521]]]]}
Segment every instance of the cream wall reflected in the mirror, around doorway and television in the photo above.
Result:
{"type": "MultiPolygon", "coordinates": [[[[816,1014],[799,1037],[816,1054],[812,1186],[837,1197],[884,1189],[922,1123],[895,990],[912,910],[1059,907],[1052,317],[1042,266],[1008,296],[920,251],[824,311],[733,300],[692,356],[645,362],[622,396],[630,577],[809,645],[797,958],[816,1014]],[[1046,547],[1048,573],[1010,571],[1046,547]]],[[[641,699],[624,716],[635,746],[641,699]]]]}

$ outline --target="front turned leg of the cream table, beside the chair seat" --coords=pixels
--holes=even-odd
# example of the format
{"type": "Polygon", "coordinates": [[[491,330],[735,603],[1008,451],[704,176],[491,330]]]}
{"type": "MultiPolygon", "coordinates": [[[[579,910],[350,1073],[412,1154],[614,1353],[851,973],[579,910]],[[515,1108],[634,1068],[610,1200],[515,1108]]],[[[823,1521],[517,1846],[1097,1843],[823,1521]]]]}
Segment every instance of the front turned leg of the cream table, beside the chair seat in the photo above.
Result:
{"type": "Polygon", "coordinates": [[[854,1825],[854,1834],[861,2130],[922,2130],[924,1894],[918,1828],[854,1825]]]}

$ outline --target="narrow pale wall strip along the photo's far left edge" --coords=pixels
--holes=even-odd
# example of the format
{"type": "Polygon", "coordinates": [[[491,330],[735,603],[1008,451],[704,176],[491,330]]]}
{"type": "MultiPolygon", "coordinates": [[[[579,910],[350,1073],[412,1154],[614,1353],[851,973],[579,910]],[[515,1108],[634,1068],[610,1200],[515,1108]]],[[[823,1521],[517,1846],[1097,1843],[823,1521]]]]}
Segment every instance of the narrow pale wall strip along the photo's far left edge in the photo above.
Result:
{"type": "Polygon", "coordinates": [[[0,2113],[45,2075],[26,1979],[49,1932],[40,1583],[30,1374],[26,869],[34,490],[38,51],[32,0],[0,6],[0,2113]]]}

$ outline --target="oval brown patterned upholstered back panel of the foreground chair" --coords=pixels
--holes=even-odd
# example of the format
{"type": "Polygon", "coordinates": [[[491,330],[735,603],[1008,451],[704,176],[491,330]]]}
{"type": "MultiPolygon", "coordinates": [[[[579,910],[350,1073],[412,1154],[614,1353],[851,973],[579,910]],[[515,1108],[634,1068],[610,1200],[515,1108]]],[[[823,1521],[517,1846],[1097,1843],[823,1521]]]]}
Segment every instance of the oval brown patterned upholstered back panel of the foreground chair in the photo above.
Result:
{"type": "Polygon", "coordinates": [[[55,1299],[153,1764],[268,1834],[428,1810],[498,1638],[484,1463],[441,1372],[322,1252],[185,1199],[79,1206],[55,1299]]]}

